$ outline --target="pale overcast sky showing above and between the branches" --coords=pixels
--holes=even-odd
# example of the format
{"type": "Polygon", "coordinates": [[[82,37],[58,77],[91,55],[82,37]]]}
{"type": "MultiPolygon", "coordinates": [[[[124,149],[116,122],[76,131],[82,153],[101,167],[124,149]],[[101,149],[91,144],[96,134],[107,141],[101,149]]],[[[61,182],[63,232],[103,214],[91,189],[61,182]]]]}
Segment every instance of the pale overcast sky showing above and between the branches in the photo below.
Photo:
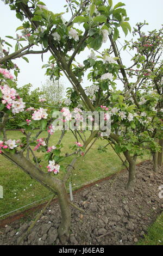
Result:
{"type": "MultiPolygon", "coordinates": [[[[48,10],[53,11],[53,13],[61,13],[65,12],[64,5],[66,4],[66,0],[44,0],[43,1],[46,5],[48,10]]],[[[120,1],[113,0],[113,5],[120,1]]],[[[143,22],[144,20],[149,23],[148,26],[144,28],[144,31],[152,31],[154,29],[160,29],[163,23],[162,20],[162,8],[163,8],[163,1],[162,0],[122,0],[126,6],[127,15],[130,18],[129,23],[131,28],[135,26],[137,22],[143,22]]],[[[15,16],[15,11],[11,11],[8,5],[5,5],[0,0],[0,22],[1,22],[1,29],[0,29],[0,37],[5,39],[6,35],[15,36],[16,28],[21,26],[22,22],[18,20],[15,16]]],[[[65,14],[63,17],[68,20],[70,19],[70,14],[65,14]]],[[[121,39],[118,39],[117,45],[121,48],[124,45],[124,40],[130,40],[131,34],[129,33],[126,37],[124,33],[121,32],[121,39]]],[[[7,38],[6,38],[7,39],[7,38]]],[[[7,39],[8,42],[12,44],[12,39],[7,39]]],[[[103,44],[105,48],[109,48],[109,40],[103,44]]],[[[10,53],[14,51],[10,48],[10,53]]],[[[82,64],[83,60],[87,58],[89,51],[86,50],[85,53],[82,53],[82,57],[77,57],[77,60],[82,64]]],[[[130,53],[132,54],[132,53],[130,53]]],[[[122,51],[122,61],[123,64],[126,66],[130,66],[131,62],[131,55],[127,51],[122,51]]],[[[14,60],[14,63],[18,65],[21,69],[21,72],[18,74],[17,84],[18,87],[23,86],[24,84],[31,83],[34,88],[38,88],[41,84],[45,83],[47,80],[47,76],[45,75],[45,69],[42,69],[42,65],[48,62],[48,58],[51,56],[50,53],[43,54],[43,62],[41,60],[40,54],[28,55],[29,63],[27,63],[22,58],[14,60]]],[[[71,84],[67,79],[64,77],[62,79],[64,81],[65,88],[70,87],[71,84]]],[[[87,81],[86,77],[83,80],[83,87],[89,86],[90,83],[87,81]]],[[[120,86],[121,87],[121,86],[120,86]]]]}

